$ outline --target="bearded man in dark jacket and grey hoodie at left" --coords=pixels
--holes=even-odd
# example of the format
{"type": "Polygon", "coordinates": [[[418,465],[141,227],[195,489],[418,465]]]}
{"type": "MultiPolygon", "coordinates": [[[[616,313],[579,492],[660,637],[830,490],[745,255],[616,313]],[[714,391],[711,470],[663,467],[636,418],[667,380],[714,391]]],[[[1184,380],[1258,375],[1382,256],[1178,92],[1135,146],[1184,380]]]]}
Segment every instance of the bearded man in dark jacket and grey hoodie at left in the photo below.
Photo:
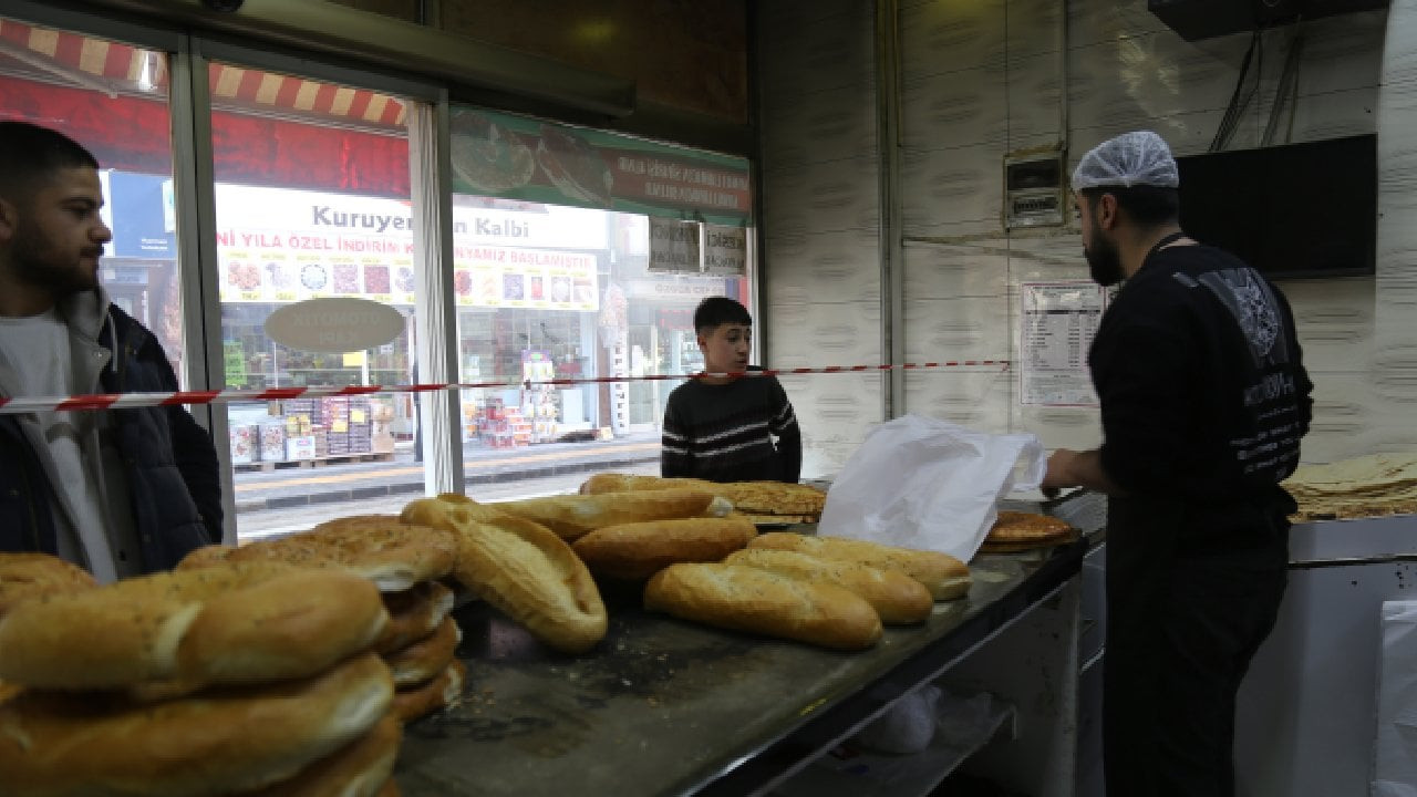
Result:
{"type": "MultiPolygon", "coordinates": [[[[88,150],[0,122],[0,396],[177,390],[162,346],[98,282],[102,204],[88,150]]],[[[0,416],[0,550],[112,581],[220,542],[221,518],[217,451],[181,407],[0,416]]]]}

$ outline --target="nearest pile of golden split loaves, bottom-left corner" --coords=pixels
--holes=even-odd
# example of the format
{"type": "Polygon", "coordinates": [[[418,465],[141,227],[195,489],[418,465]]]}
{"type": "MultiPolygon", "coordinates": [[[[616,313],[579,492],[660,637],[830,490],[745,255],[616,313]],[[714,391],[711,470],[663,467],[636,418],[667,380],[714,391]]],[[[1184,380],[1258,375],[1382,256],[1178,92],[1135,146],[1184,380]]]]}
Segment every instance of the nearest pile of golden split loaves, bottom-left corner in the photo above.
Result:
{"type": "Polygon", "coordinates": [[[0,617],[4,794],[378,794],[401,725],[366,651],[387,624],[367,579],[273,562],[21,598],[0,617]]]}

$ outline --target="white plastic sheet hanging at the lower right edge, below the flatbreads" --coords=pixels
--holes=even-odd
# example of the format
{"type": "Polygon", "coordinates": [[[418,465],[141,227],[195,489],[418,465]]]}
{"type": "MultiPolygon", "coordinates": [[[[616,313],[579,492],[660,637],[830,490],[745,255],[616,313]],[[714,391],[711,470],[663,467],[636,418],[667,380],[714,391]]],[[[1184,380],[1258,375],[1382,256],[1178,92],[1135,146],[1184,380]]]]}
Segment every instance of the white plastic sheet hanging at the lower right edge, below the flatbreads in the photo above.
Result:
{"type": "Polygon", "coordinates": [[[1417,601],[1383,601],[1373,797],[1417,797],[1417,601]]]}

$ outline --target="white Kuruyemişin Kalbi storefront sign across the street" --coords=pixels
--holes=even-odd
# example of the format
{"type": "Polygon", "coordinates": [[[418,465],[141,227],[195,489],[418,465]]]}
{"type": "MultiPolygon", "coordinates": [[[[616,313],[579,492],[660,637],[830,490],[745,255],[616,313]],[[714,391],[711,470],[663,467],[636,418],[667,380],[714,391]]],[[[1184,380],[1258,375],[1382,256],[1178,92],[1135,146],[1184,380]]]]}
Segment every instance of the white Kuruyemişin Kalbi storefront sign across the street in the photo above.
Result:
{"type": "MultiPolygon", "coordinates": [[[[351,296],[414,303],[414,233],[405,203],[217,186],[222,302],[351,296]]],[[[453,208],[453,291],[461,306],[598,309],[601,213],[453,208]],[[509,245],[516,244],[516,245],[509,245]]]]}

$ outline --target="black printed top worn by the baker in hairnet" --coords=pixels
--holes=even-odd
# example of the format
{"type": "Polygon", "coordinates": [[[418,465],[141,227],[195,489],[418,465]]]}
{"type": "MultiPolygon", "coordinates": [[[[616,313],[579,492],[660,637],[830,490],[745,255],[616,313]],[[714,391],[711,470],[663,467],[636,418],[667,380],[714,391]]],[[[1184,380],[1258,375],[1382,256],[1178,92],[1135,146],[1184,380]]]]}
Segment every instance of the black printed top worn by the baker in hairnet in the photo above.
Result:
{"type": "Polygon", "coordinates": [[[1152,252],[1108,306],[1088,364],[1102,469],[1136,496],[1292,512],[1278,482],[1312,417],[1284,295],[1212,247],[1152,252]]]}

